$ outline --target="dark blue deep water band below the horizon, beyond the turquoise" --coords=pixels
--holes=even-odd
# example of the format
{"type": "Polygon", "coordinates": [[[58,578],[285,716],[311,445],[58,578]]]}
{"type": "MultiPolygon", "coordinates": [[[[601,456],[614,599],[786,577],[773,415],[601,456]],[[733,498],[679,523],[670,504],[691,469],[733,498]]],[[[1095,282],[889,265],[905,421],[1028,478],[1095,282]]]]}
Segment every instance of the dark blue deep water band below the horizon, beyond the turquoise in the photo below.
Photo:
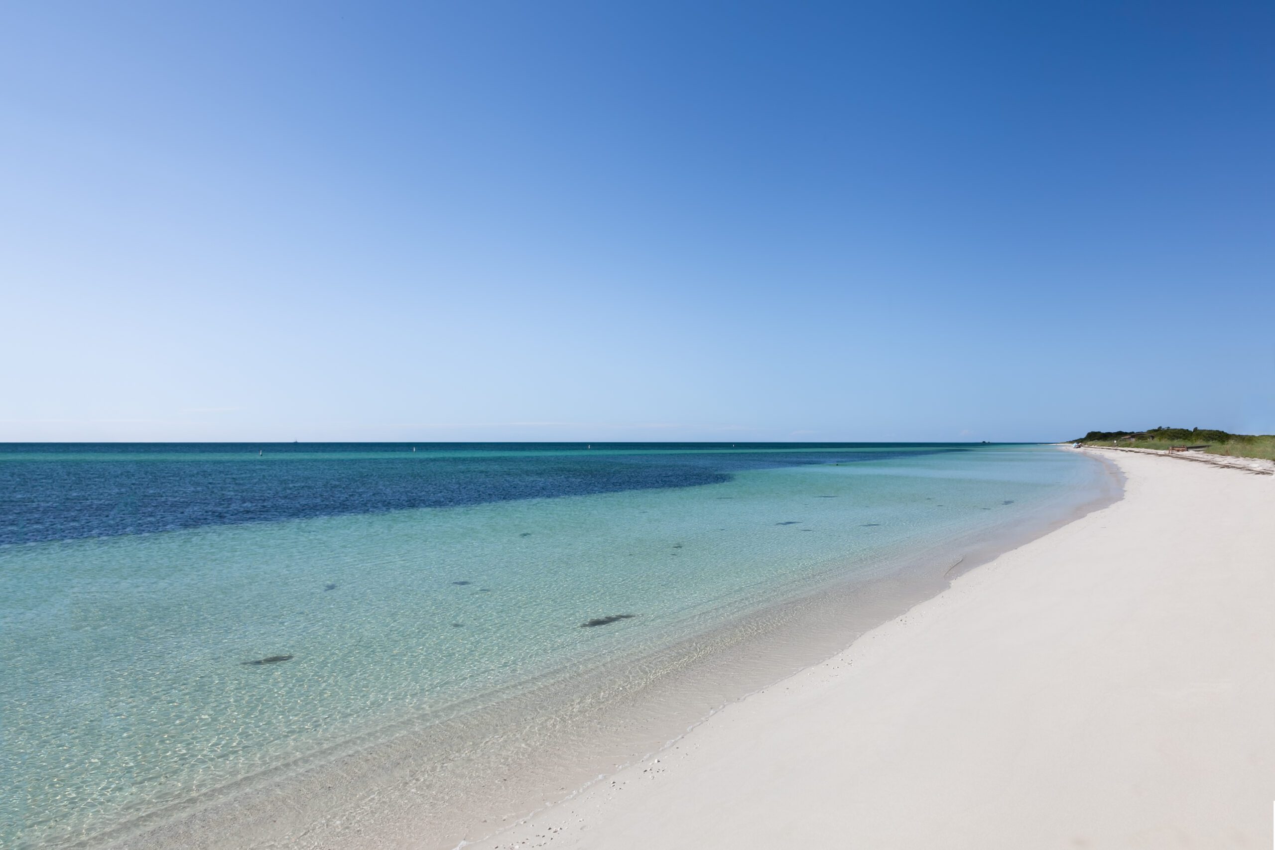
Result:
{"type": "Polygon", "coordinates": [[[583,449],[585,443],[4,443],[0,545],[695,487],[748,469],[969,450],[959,443],[583,449]]]}

